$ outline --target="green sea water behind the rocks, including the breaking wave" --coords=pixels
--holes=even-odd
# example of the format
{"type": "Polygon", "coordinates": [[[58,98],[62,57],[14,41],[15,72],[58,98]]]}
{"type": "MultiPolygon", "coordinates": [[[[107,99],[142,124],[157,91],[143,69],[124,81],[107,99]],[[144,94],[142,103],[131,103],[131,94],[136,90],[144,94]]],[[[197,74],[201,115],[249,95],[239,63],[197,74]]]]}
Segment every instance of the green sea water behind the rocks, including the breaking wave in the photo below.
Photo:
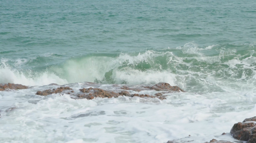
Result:
{"type": "Polygon", "coordinates": [[[0,83],[252,88],[255,23],[253,0],[1,0],[0,83]]]}

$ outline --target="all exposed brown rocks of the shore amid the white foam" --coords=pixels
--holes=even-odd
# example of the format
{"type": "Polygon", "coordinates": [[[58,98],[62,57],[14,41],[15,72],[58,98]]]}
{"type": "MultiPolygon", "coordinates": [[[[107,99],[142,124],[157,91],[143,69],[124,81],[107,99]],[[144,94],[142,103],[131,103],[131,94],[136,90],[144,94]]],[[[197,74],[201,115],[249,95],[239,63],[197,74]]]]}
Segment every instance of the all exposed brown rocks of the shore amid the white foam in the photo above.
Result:
{"type": "MultiPolygon", "coordinates": [[[[56,84],[52,84],[56,86],[56,84]]],[[[37,91],[35,94],[40,96],[47,96],[51,94],[69,94],[70,97],[74,99],[94,99],[94,98],[117,98],[118,96],[129,96],[129,97],[141,97],[141,98],[158,98],[158,99],[166,99],[165,93],[171,93],[171,92],[185,92],[178,86],[170,86],[168,83],[158,83],[156,85],[151,86],[137,86],[137,87],[128,87],[128,86],[115,86],[115,90],[104,90],[97,87],[89,87],[89,88],[81,88],[81,89],[71,89],[67,86],[60,86],[58,88],[53,89],[47,89],[43,91],[37,91]],[[143,90],[154,90],[153,95],[148,94],[138,94],[139,92],[143,90]],[[135,93],[134,93],[135,92],[135,93]]],[[[13,83],[7,83],[7,84],[0,84],[0,91],[12,91],[12,90],[19,90],[19,89],[28,89],[30,87],[20,85],[20,84],[13,84],[13,83]]],[[[225,135],[226,133],[223,133],[222,135],[225,135]]],[[[233,125],[231,128],[230,134],[234,139],[239,141],[244,141],[246,143],[256,143],[256,117],[252,118],[246,118],[243,122],[238,122],[233,125]]],[[[190,138],[186,137],[186,138],[190,138]]],[[[167,143],[185,143],[185,142],[193,142],[193,140],[170,140],[167,143]]],[[[212,139],[210,142],[205,143],[234,143],[226,140],[216,140],[212,139]]]]}

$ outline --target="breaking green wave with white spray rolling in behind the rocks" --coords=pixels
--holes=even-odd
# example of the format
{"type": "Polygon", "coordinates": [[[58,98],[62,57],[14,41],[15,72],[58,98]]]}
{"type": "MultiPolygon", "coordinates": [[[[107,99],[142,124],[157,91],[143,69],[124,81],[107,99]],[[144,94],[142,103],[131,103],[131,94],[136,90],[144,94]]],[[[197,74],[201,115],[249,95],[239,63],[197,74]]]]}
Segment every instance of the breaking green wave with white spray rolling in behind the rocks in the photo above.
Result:
{"type": "Polygon", "coordinates": [[[35,86],[76,82],[129,85],[167,82],[189,92],[254,90],[255,45],[198,47],[190,42],[181,47],[141,53],[82,55],[52,64],[49,61],[57,59],[54,54],[42,57],[46,60],[21,60],[16,64],[8,64],[8,59],[2,58],[0,83],[35,86]],[[39,61],[43,64],[36,63],[39,61]]]}

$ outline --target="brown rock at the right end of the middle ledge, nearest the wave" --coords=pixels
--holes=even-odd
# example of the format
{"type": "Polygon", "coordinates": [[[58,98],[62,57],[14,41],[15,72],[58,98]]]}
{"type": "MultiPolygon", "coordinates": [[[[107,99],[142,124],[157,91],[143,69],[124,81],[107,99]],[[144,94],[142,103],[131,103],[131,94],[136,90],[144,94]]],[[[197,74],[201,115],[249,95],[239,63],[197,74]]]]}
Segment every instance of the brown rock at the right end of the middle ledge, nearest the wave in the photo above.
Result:
{"type": "Polygon", "coordinates": [[[148,88],[156,91],[177,91],[177,92],[185,92],[178,86],[171,86],[169,83],[158,83],[154,86],[142,86],[143,88],[148,88]]]}

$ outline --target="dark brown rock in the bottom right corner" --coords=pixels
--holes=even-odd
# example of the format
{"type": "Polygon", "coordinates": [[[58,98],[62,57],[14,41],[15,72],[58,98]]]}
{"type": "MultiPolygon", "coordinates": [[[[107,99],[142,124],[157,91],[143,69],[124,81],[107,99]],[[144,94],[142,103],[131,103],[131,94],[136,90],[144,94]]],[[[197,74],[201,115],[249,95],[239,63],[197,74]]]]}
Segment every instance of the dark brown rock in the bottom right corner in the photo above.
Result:
{"type": "Polygon", "coordinates": [[[256,143],[256,117],[247,118],[243,123],[234,124],[230,133],[237,140],[247,141],[247,143],[256,143]]]}

